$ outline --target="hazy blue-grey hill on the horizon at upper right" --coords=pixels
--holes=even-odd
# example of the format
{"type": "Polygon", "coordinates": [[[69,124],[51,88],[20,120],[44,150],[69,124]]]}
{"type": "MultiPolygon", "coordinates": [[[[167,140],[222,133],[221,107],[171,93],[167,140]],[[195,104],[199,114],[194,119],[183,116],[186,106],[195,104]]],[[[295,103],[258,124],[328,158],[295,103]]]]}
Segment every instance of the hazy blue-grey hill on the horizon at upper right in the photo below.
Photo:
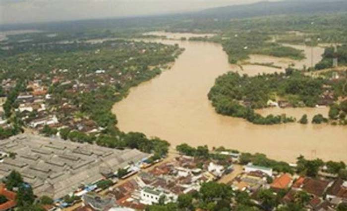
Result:
{"type": "Polygon", "coordinates": [[[346,0],[284,0],[261,1],[216,7],[197,12],[195,16],[209,18],[246,18],[280,14],[314,14],[321,12],[347,11],[346,0]]]}

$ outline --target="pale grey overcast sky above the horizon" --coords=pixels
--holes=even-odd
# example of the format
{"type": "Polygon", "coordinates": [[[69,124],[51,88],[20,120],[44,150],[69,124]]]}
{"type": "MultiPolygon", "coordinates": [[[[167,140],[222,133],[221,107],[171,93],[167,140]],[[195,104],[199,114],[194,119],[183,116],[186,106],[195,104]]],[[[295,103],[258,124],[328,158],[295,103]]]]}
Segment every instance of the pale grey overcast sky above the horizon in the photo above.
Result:
{"type": "Polygon", "coordinates": [[[259,0],[0,0],[0,24],[197,11],[259,0]]]}

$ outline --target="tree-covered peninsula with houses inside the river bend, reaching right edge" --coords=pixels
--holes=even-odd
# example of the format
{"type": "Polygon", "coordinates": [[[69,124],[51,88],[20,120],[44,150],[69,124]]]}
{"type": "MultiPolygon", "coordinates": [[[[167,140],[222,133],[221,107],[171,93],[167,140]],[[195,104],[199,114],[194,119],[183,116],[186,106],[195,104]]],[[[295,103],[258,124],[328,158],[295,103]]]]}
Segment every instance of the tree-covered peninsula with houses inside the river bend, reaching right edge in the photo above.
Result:
{"type": "MultiPolygon", "coordinates": [[[[341,82],[344,83],[344,82],[341,82]]],[[[216,79],[208,98],[217,113],[243,118],[256,125],[275,125],[296,122],[284,115],[263,117],[254,109],[277,107],[315,107],[332,105],[329,118],[333,125],[347,125],[347,100],[337,103],[339,97],[346,97],[346,90],[327,74],[320,77],[305,76],[301,71],[287,68],[286,73],[258,76],[239,75],[229,72],[216,79]]],[[[321,114],[313,117],[313,124],[327,123],[321,114]]],[[[307,115],[299,123],[307,124],[307,115]]]]}

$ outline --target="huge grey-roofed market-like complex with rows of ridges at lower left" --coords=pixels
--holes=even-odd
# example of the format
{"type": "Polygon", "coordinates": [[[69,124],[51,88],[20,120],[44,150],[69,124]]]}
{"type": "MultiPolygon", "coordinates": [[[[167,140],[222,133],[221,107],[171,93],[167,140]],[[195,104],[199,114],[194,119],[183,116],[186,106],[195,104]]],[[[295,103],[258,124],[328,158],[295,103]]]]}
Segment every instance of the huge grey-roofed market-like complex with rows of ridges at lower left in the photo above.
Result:
{"type": "Polygon", "coordinates": [[[36,195],[54,199],[149,156],[136,149],[116,150],[31,134],[0,141],[0,151],[15,153],[15,158],[5,157],[0,163],[0,177],[17,170],[36,195]]]}

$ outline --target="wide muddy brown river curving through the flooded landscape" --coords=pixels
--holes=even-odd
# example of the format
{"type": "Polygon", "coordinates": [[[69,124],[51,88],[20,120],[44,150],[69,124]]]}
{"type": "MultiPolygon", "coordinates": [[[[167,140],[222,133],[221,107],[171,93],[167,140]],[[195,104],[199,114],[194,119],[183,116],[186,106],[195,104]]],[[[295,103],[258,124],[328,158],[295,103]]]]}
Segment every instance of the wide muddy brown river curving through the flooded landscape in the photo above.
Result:
{"type": "MultiPolygon", "coordinates": [[[[185,51],[171,70],[131,88],[129,95],[115,104],[113,112],[121,130],[157,136],[169,141],[173,147],[180,143],[206,144],[265,153],[270,158],[287,162],[295,162],[300,154],[310,159],[347,162],[347,127],[312,124],[257,126],[243,119],[218,115],[207,93],[218,76],[228,71],[241,71],[228,63],[221,45],[173,40],[160,42],[178,43],[185,51]]],[[[310,55],[307,57],[311,58],[310,55]]],[[[307,62],[300,61],[299,64],[307,62]]],[[[255,75],[274,71],[283,70],[247,65],[241,72],[255,75]]],[[[300,118],[303,114],[309,117],[318,113],[327,115],[328,110],[272,108],[258,112],[265,115],[286,113],[300,118]]]]}

